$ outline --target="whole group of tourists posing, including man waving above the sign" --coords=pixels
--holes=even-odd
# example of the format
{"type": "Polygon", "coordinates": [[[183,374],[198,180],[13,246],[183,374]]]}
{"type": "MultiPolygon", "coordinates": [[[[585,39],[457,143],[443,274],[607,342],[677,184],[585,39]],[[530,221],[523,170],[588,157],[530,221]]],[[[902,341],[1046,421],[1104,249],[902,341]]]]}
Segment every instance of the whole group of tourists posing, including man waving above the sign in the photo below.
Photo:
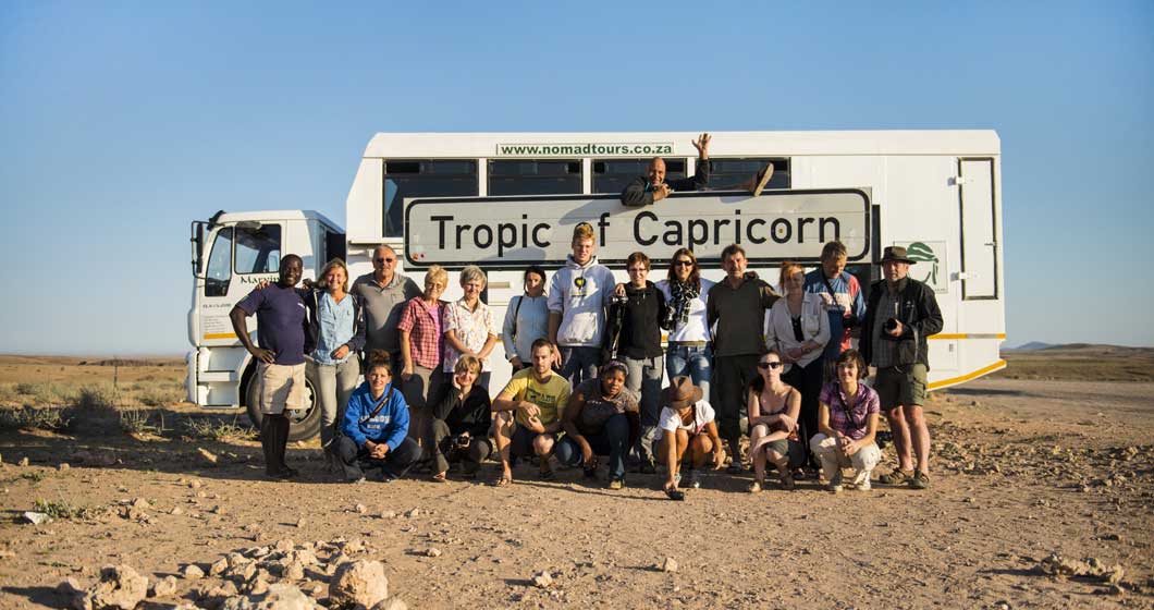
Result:
{"type": "MultiPolygon", "coordinates": [[[[703,134],[694,142],[702,161],[709,141],[703,134]]],[[[674,188],[700,188],[707,168],[698,163],[697,176],[669,184],[664,162],[653,159],[622,202],[653,204],[674,188]]],[[[763,188],[771,173],[764,169],[747,186],[763,188]]],[[[267,474],[297,474],[284,459],[285,411],[302,408],[308,367],[327,459],[350,481],[364,481],[367,469],[395,478],[420,464],[443,482],[456,462],[474,478],[496,453],[496,485],[512,483],[516,460],[535,462],[549,479],[554,464],[598,478],[605,459],[609,489],[624,486],[630,464],[643,474],[664,467],[670,498],[683,497],[683,484],[697,486],[700,469],[727,461],[730,474],[751,466],[752,492],[766,485],[769,464],[782,489],[820,473],[840,491],[842,468],[853,468],[849,484],[868,490],[884,411],[898,464],[879,481],[929,485],[926,337],[941,330],[942,314],[934,291],[908,276],[914,261],[905,248],[885,248],[884,278],[865,303],[838,241],[824,246],[809,274],[782,263],[781,295],[747,271],[737,244],[721,252],[726,277],[717,283],[700,276],[689,248],[673,253],[657,283],[650,258],[632,253],[629,281],[619,284],[597,260],[591,225],[574,229],[571,246],[552,278],[539,267],[524,270],[524,293],[511,299],[500,328],[475,266],[460,271],[464,296],[447,303],[443,268],[428,268],[420,290],[396,273],[397,254],[385,245],[373,253],[374,271],[351,289],[340,260],[298,289],[301,260],[284,256],[278,281],[231,312],[257,360],[267,474]],[[246,327],[253,314],[260,347],[246,327]],[[490,400],[497,341],[514,374],[490,400]],[[874,387],[862,382],[869,366],[877,370],[874,387]]]]}

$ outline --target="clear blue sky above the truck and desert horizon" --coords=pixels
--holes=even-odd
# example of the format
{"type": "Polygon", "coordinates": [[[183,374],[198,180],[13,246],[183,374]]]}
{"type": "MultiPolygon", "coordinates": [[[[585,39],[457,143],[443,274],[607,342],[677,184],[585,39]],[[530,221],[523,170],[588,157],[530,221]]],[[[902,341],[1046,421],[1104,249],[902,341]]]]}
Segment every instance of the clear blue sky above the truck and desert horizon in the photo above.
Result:
{"type": "Polygon", "coordinates": [[[1154,2],[0,1],[0,352],[188,349],[188,223],[376,132],[992,128],[1007,344],[1154,345],[1154,2]]]}

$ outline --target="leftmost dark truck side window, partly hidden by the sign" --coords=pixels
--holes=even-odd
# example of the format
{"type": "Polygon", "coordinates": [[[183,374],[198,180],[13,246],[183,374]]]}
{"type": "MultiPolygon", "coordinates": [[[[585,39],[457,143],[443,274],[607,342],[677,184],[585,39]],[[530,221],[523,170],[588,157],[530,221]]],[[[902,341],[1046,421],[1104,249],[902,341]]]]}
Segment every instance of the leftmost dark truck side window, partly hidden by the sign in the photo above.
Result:
{"type": "Polygon", "coordinates": [[[406,198],[478,194],[475,161],[385,161],[384,235],[403,235],[406,198]]]}

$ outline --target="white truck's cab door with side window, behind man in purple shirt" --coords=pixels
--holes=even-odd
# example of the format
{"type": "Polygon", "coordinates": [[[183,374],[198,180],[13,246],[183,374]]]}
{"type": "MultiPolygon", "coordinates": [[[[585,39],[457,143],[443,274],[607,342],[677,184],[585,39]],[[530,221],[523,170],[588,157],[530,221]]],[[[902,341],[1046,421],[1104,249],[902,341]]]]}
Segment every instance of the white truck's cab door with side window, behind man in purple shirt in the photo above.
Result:
{"type": "MultiPolygon", "coordinates": [[[[238,344],[228,312],[262,280],[277,281],[282,226],[239,223],[217,230],[200,296],[201,345],[238,344]]],[[[255,329],[250,321],[249,329],[255,329]]]]}

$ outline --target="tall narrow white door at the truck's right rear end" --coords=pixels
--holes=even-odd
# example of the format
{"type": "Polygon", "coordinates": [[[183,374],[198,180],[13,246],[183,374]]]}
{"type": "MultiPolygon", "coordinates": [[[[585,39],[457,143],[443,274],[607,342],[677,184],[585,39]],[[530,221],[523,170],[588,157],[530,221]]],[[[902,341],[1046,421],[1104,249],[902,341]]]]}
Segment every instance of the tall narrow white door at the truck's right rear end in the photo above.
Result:
{"type": "Polygon", "coordinates": [[[994,217],[994,159],[959,159],[961,199],[961,296],[996,299],[997,239],[994,217]]]}

